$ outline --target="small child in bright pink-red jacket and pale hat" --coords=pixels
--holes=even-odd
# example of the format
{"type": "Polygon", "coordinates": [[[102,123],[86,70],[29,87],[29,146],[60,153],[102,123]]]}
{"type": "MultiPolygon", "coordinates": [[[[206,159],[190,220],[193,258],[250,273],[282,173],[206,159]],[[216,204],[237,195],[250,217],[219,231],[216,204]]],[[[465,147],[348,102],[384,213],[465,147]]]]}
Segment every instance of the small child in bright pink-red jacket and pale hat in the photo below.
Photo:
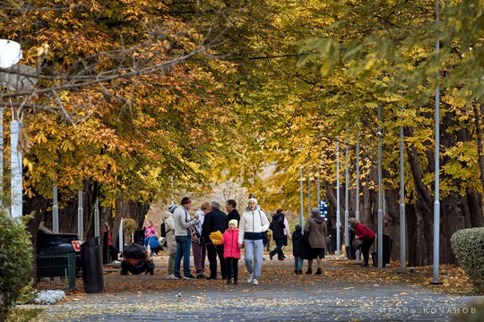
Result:
{"type": "Polygon", "coordinates": [[[223,248],[223,258],[227,265],[227,284],[231,283],[230,272],[234,273],[234,284],[238,284],[238,259],[240,259],[240,249],[238,248],[238,222],[237,219],[229,221],[229,229],[222,234],[220,244],[225,244],[223,248]]]}

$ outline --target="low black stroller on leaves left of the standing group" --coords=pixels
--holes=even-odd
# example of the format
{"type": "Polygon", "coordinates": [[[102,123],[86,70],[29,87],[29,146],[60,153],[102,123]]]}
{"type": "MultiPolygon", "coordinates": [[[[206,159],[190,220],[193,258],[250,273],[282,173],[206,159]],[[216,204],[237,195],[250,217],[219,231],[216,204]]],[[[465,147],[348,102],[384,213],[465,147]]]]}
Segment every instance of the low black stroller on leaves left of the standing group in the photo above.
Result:
{"type": "Polygon", "coordinates": [[[143,245],[133,244],[126,247],[122,253],[123,261],[121,262],[121,275],[147,275],[154,274],[154,263],[149,260],[149,254],[143,245]]]}

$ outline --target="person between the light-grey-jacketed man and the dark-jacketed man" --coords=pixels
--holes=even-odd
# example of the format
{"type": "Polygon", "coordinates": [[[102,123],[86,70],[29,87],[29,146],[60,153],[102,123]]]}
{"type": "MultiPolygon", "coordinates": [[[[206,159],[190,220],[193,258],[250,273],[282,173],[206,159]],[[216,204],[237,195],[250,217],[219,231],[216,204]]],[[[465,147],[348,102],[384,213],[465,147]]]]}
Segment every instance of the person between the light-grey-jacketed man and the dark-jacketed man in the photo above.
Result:
{"type": "Polygon", "coordinates": [[[203,272],[205,271],[205,258],[207,257],[207,246],[203,242],[202,238],[202,225],[205,219],[205,215],[211,210],[208,202],[203,202],[200,209],[196,211],[198,215],[197,223],[192,227],[192,252],[194,254],[194,266],[196,271],[196,278],[206,277],[203,272]]]}

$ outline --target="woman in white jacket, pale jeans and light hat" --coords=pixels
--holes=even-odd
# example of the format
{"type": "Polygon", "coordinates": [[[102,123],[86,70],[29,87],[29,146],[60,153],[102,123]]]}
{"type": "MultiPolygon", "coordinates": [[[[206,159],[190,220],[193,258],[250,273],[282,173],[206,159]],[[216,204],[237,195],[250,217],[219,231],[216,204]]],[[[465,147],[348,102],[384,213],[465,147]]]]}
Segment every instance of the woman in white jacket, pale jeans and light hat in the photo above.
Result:
{"type": "Polygon", "coordinates": [[[254,196],[248,199],[246,211],[240,216],[238,225],[238,248],[245,248],[246,267],[249,273],[247,283],[258,285],[264,258],[263,232],[269,229],[269,220],[257,205],[254,196]]]}

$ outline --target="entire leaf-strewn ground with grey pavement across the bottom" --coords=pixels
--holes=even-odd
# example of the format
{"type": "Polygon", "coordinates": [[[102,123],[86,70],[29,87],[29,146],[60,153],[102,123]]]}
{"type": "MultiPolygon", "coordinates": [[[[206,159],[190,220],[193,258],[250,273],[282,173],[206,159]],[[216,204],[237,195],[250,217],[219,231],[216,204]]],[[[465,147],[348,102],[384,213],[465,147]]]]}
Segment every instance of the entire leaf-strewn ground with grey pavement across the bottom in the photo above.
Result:
{"type": "MultiPolygon", "coordinates": [[[[324,259],[322,275],[296,275],[293,274],[292,256],[287,257],[284,261],[270,260],[265,254],[260,284],[254,286],[246,283],[243,259],[239,262],[239,285],[227,285],[221,279],[168,279],[168,257],[160,253],[154,258],[154,275],[120,275],[118,267],[105,267],[104,292],[99,294],[83,292],[82,279],[78,279],[78,289],[68,292],[65,301],[58,305],[44,307],[38,320],[114,321],[138,320],[136,318],[140,317],[157,319],[165,315],[199,321],[220,320],[221,315],[223,320],[238,320],[240,317],[261,320],[269,311],[273,314],[285,312],[290,316],[289,320],[294,321],[312,320],[315,312],[323,314],[321,320],[327,321],[448,320],[450,315],[445,315],[446,312],[436,310],[437,316],[434,316],[424,310],[463,309],[473,298],[439,296],[413,287],[418,285],[437,292],[469,295],[471,284],[459,267],[441,267],[441,277],[449,276],[449,285],[445,286],[430,284],[433,267],[415,267],[412,273],[407,270],[402,274],[399,263],[392,263],[389,268],[360,267],[354,260],[333,255],[324,259]],[[405,308],[414,310],[416,318],[403,314],[405,308]]],[[[208,261],[206,265],[208,271],[208,261]]],[[[475,300],[482,301],[482,297],[475,300]]],[[[474,307],[478,308],[480,304],[474,307]]]]}

